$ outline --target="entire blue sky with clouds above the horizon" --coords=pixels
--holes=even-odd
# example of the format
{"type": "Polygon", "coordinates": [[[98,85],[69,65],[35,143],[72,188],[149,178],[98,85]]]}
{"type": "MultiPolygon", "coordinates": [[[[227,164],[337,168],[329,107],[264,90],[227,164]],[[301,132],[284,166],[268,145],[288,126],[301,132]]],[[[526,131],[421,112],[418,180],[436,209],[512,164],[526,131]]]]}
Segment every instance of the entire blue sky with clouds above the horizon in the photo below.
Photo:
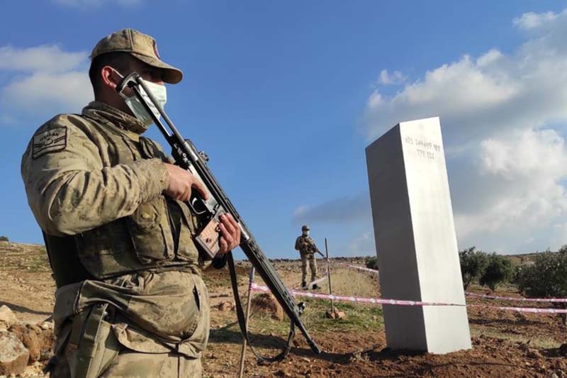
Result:
{"type": "Polygon", "coordinates": [[[494,4],[6,2],[0,234],[41,242],[21,154],[41,123],[80,112],[89,52],[130,27],[184,71],[167,111],[206,150],[269,257],[296,256],[303,223],[332,255],[374,254],[364,148],[399,121],[432,115],[459,247],[557,248],[567,243],[567,4],[494,4]]]}

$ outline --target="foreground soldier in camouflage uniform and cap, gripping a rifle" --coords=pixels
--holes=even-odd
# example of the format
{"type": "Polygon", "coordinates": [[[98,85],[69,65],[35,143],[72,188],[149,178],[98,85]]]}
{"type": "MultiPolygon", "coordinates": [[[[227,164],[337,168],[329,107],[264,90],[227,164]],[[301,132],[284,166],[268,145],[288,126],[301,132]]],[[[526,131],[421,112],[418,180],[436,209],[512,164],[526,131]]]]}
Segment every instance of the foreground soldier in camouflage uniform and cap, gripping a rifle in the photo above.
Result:
{"type": "MultiPolygon", "coordinates": [[[[91,54],[95,101],[47,121],[23,154],[57,284],[51,377],[201,377],[209,300],[186,201],[208,193],[141,135],[147,113],[115,90],[133,71],[152,85],[182,78],[149,35],[108,35],[91,54]]],[[[220,233],[220,252],[240,243],[230,215],[220,233]]]]}

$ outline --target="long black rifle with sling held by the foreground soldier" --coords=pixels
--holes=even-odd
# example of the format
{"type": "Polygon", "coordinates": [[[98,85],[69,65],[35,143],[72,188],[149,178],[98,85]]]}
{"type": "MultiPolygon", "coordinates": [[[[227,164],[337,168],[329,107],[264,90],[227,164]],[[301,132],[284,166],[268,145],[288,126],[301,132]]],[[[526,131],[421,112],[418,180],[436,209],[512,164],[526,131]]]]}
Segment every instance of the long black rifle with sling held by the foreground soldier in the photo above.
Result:
{"type": "MultiPolygon", "coordinates": [[[[246,226],[244,221],[242,221],[242,218],[240,218],[240,215],[237,213],[235,207],[232,206],[230,199],[228,199],[228,196],[220,187],[220,184],[218,184],[218,181],[213,176],[213,173],[210,172],[210,169],[208,168],[206,163],[208,161],[206,154],[204,154],[204,152],[198,152],[191,140],[184,139],[181,136],[177,128],[174,126],[173,122],[164,112],[164,109],[159,106],[154,96],[152,95],[152,92],[148,89],[147,85],[139,74],[133,72],[122,79],[120,83],[118,83],[116,91],[118,91],[118,93],[121,95],[128,95],[123,93],[126,88],[130,88],[133,91],[137,99],[139,99],[142,105],[145,107],[147,113],[152,117],[152,120],[154,121],[156,126],[164,135],[164,138],[167,140],[169,145],[172,146],[172,155],[176,161],[176,165],[179,165],[179,167],[181,168],[187,169],[189,172],[191,172],[191,174],[193,174],[193,176],[197,177],[207,188],[210,194],[209,198],[205,200],[200,194],[198,194],[198,191],[193,190],[191,191],[191,199],[188,202],[188,205],[193,214],[197,216],[199,222],[204,225],[204,227],[195,238],[201,252],[201,257],[203,257],[205,260],[213,260],[213,265],[215,264],[215,260],[217,260],[215,259],[215,255],[219,250],[219,217],[224,213],[230,213],[240,225],[240,248],[243,252],[245,252],[248,260],[252,263],[252,265],[254,265],[257,272],[260,274],[262,279],[264,279],[264,282],[271,290],[272,294],[274,294],[279,304],[281,304],[283,311],[286,311],[287,316],[291,320],[288,343],[279,355],[276,355],[275,357],[264,357],[262,355],[259,355],[259,353],[257,353],[256,350],[252,348],[252,345],[250,345],[250,348],[252,349],[252,352],[254,352],[254,355],[256,355],[259,360],[264,360],[267,362],[282,360],[283,357],[286,357],[289,350],[291,349],[293,337],[295,335],[294,327],[298,327],[299,330],[301,330],[301,333],[303,333],[303,336],[305,336],[305,340],[307,340],[311,350],[313,350],[313,352],[315,352],[316,354],[319,354],[321,351],[318,345],[315,343],[315,340],[311,338],[307,329],[305,329],[305,326],[301,322],[300,316],[305,309],[305,306],[303,305],[303,303],[296,304],[293,296],[289,294],[288,289],[286,289],[286,287],[283,285],[281,278],[277,274],[274,267],[272,267],[266,255],[264,255],[264,252],[262,252],[262,250],[259,248],[259,245],[256,243],[256,240],[252,236],[249,228],[246,226]],[[147,94],[147,98],[142,95],[140,87],[147,94]],[[150,107],[150,104],[148,103],[148,99],[152,102],[152,106],[154,106],[155,109],[157,109],[162,115],[170,130],[167,130],[162,121],[157,116],[155,116],[152,108],[150,107]]],[[[228,266],[230,269],[230,280],[232,282],[232,291],[235,295],[238,323],[240,323],[240,330],[242,331],[243,337],[247,340],[248,344],[250,344],[248,338],[248,330],[246,328],[244,319],[244,311],[242,310],[240,296],[238,295],[236,270],[234,266],[234,260],[232,259],[232,253],[229,252],[227,254],[227,257],[228,266]]]]}

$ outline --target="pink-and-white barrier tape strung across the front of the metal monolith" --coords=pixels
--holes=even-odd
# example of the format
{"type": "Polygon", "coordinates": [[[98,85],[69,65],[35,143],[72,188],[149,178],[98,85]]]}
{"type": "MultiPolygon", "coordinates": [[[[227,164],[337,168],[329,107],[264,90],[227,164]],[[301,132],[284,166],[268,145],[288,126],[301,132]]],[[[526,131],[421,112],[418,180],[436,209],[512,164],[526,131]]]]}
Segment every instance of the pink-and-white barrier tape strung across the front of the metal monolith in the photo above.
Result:
{"type": "MultiPolygon", "coordinates": [[[[252,291],[264,291],[264,292],[270,291],[268,287],[260,286],[254,283],[250,285],[250,289],[252,291]]],[[[348,301],[348,302],[357,302],[357,303],[366,303],[366,304],[394,304],[398,306],[454,306],[454,307],[467,306],[467,307],[495,308],[498,310],[529,312],[529,313],[567,313],[567,309],[563,309],[563,308],[484,306],[482,304],[445,304],[445,303],[437,303],[437,302],[403,301],[400,299],[361,298],[359,296],[329,295],[329,294],[311,293],[308,291],[299,291],[293,289],[291,289],[289,292],[293,296],[305,296],[308,298],[332,299],[334,301],[348,301]]]]}

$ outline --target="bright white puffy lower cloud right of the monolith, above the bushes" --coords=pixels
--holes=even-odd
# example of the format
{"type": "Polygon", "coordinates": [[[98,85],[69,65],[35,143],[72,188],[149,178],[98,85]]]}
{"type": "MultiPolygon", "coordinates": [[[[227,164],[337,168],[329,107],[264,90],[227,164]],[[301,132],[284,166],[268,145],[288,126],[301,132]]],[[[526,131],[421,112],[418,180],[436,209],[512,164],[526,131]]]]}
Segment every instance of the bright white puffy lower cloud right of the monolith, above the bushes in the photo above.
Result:
{"type": "Polygon", "coordinates": [[[530,233],[566,217],[561,179],[567,177],[567,148],[555,130],[488,138],[480,143],[477,157],[480,164],[471,172],[478,196],[471,201],[476,209],[455,205],[463,240],[505,232],[517,233],[518,238],[528,235],[532,243],[536,238],[530,233]]]}

